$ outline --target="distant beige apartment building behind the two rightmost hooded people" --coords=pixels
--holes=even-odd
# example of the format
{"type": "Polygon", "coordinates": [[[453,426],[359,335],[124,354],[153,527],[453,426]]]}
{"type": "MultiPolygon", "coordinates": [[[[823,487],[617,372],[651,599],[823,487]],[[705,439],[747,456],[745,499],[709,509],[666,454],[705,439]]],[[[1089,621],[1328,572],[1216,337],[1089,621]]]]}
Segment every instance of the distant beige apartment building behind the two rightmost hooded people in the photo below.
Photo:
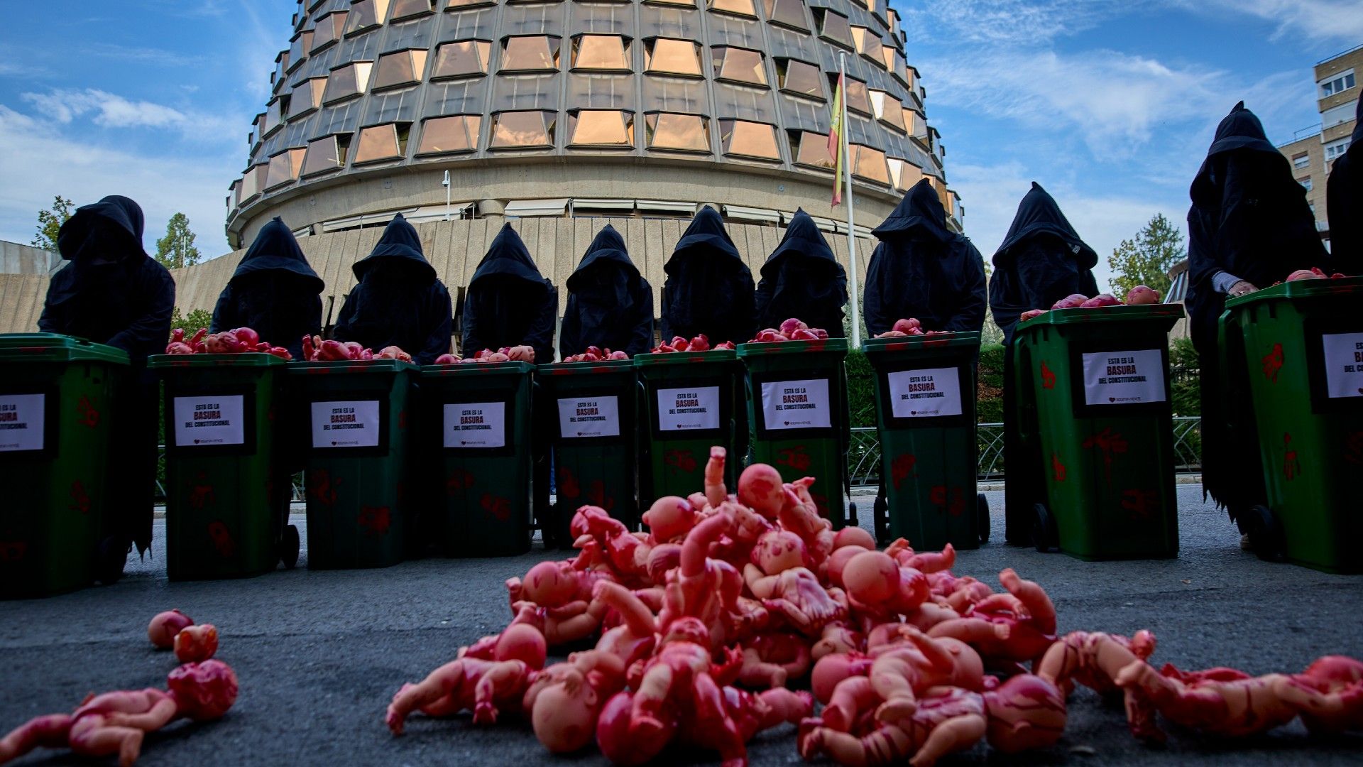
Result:
{"type": "Polygon", "coordinates": [[[1292,164],[1298,183],[1315,213],[1315,228],[1325,246],[1330,222],[1325,213],[1325,179],[1336,157],[1349,147],[1358,113],[1359,79],[1363,78],[1363,45],[1315,64],[1315,98],[1321,124],[1298,131],[1298,138],[1278,147],[1292,164]]]}

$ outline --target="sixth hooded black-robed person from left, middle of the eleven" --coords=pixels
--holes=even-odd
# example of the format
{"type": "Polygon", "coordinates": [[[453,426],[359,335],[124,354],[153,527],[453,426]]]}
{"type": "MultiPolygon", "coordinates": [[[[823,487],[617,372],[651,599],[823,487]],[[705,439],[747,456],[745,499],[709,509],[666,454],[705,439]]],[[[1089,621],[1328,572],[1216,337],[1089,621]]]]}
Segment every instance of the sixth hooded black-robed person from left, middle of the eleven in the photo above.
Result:
{"type": "Polygon", "coordinates": [[[662,284],[664,343],[703,333],[710,345],[743,344],[756,336],[752,272],[713,207],[695,214],[662,270],[668,274],[662,284]]]}

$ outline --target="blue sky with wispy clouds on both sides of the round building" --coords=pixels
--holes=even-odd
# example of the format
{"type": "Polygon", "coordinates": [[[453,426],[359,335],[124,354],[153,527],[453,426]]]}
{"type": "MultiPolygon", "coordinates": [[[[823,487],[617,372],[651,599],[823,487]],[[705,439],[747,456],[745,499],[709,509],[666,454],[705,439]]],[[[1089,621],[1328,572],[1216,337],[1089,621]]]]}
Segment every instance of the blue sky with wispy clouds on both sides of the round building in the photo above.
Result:
{"type": "MultiPolygon", "coordinates": [[[[10,3],[0,26],[0,239],[127,194],[147,243],[177,210],[207,257],[288,44],[289,0],[10,3]],[[67,10],[70,8],[70,10],[67,10]]],[[[1313,64],[1363,44],[1358,0],[894,1],[966,233],[988,257],[1040,182],[1100,255],[1182,224],[1212,131],[1244,98],[1274,142],[1319,121],[1313,64]]],[[[1100,263],[1105,284],[1105,263],[1100,263]]]]}

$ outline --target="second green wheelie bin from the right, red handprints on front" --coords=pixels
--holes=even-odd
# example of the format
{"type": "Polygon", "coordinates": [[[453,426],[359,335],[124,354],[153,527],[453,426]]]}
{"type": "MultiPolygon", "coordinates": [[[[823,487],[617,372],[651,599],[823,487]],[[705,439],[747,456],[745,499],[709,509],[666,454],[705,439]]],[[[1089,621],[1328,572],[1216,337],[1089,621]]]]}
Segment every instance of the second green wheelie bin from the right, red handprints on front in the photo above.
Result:
{"type": "MultiPolygon", "coordinates": [[[[1013,353],[1026,456],[1040,471],[1037,550],[1079,560],[1179,553],[1168,333],[1180,304],[1052,310],[1022,321],[1013,353]]],[[[1018,513],[1017,509],[1007,509],[1018,513]]]]}

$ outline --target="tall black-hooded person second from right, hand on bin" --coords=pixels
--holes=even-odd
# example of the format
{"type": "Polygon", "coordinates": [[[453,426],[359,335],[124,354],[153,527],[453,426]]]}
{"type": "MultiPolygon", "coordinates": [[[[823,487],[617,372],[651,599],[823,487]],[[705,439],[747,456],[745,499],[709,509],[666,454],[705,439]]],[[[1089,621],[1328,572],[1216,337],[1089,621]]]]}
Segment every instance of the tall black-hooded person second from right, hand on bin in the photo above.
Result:
{"type": "MultiPolygon", "coordinates": [[[[1318,266],[1325,247],[1306,190],[1243,101],[1217,126],[1190,194],[1186,303],[1201,367],[1202,489],[1238,519],[1265,501],[1264,472],[1249,384],[1227,389],[1221,382],[1217,318],[1228,293],[1268,288],[1298,269],[1318,266]],[[1244,431],[1232,437],[1229,418],[1244,431]]],[[[1243,348],[1224,351],[1231,371],[1243,375],[1243,348]]]]}

